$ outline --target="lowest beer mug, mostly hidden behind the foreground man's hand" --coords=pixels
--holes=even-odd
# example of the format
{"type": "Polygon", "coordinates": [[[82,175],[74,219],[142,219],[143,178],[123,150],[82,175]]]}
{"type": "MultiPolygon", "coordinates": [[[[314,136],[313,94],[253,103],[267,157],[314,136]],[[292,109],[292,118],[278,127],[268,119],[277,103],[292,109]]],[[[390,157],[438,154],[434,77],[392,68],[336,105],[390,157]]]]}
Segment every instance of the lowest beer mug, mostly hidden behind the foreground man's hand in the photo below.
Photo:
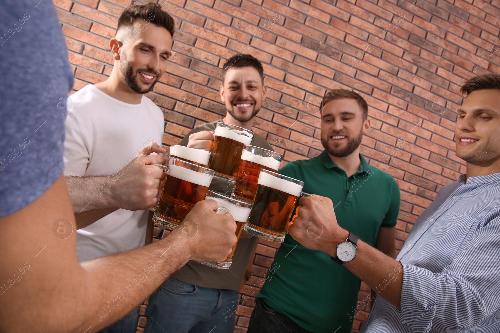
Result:
{"type": "MultiPolygon", "coordinates": [[[[215,213],[221,215],[225,214],[226,212],[231,213],[234,221],[236,221],[236,238],[239,240],[239,235],[243,230],[243,225],[248,219],[248,215],[250,214],[251,204],[213,191],[206,192],[205,200],[208,199],[215,200],[215,202],[217,203],[218,208],[215,213]]],[[[226,260],[213,263],[200,261],[199,263],[222,270],[227,270],[229,267],[231,267],[232,256],[234,256],[234,249],[236,249],[236,244],[233,245],[231,254],[226,258],[226,260]]]]}

